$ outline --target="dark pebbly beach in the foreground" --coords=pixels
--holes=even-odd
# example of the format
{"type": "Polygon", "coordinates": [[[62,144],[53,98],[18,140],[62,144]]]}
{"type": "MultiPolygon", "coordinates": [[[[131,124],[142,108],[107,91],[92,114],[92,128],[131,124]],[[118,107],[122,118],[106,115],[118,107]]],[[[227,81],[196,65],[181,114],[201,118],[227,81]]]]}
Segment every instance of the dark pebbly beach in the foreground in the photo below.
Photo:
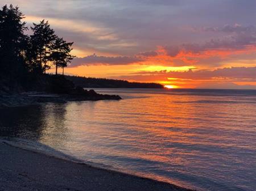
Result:
{"type": "Polygon", "coordinates": [[[176,190],[167,182],[94,167],[0,140],[0,186],[4,190],[176,190]],[[20,164],[22,163],[22,164],[20,164]]]}

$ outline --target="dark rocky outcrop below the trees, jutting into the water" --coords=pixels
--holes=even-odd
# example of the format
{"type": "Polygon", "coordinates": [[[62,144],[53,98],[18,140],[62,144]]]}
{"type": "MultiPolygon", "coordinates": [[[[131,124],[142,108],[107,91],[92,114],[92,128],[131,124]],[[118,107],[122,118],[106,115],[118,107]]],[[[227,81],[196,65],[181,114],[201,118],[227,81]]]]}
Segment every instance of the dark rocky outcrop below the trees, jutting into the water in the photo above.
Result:
{"type": "Polygon", "coordinates": [[[46,102],[65,103],[67,101],[120,100],[118,95],[97,94],[94,90],[84,90],[62,75],[44,75],[25,84],[10,86],[0,83],[0,107],[40,104],[46,102]]]}

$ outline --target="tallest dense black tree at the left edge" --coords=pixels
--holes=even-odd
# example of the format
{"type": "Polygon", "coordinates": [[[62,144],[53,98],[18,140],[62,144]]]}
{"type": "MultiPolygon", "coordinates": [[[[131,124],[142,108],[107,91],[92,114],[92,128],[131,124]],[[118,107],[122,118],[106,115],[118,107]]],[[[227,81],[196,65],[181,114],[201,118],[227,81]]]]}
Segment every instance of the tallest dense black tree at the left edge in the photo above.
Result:
{"type": "Polygon", "coordinates": [[[24,71],[27,30],[19,7],[7,5],[0,10],[0,74],[17,78],[24,71]]]}

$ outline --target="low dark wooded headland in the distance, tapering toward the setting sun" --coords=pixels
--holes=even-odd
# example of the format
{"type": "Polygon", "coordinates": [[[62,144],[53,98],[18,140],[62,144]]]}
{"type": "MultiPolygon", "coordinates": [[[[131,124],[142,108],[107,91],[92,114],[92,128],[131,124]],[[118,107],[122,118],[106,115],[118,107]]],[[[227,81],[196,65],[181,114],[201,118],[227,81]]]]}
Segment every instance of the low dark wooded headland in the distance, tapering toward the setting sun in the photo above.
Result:
{"type": "Polygon", "coordinates": [[[158,83],[138,83],[128,82],[126,80],[86,78],[68,75],[65,77],[71,80],[76,86],[88,88],[163,88],[163,86],[158,83]]]}

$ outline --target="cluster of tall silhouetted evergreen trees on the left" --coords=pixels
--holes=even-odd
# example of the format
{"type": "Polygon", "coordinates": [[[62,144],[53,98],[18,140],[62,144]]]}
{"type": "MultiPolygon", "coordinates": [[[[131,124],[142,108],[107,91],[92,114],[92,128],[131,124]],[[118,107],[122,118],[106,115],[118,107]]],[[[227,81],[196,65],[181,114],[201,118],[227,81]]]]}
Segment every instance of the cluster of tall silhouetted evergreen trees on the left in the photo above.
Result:
{"type": "Polygon", "coordinates": [[[64,67],[74,58],[71,46],[57,36],[48,21],[28,28],[19,7],[3,6],[0,10],[0,86],[26,87],[46,79],[51,67],[64,67]],[[30,30],[31,35],[27,35],[30,30]]]}

